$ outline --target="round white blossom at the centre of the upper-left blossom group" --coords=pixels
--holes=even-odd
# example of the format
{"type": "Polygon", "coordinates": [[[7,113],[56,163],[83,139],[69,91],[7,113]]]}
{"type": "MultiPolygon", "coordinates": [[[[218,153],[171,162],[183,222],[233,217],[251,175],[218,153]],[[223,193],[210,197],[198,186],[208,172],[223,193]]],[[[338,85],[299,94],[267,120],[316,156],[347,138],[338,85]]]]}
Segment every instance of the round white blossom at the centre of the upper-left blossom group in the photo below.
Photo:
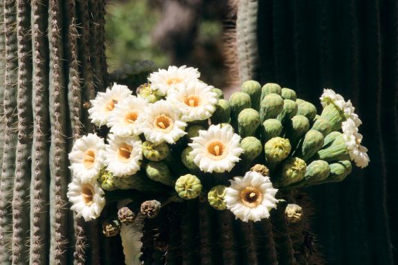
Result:
{"type": "Polygon", "coordinates": [[[173,108],[169,101],[160,100],[149,105],[139,121],[145,139],[155,145],[164,141],[174,144],[187,134],[184,131],[187,124],[181,120],[180,110],[173,108]]]}

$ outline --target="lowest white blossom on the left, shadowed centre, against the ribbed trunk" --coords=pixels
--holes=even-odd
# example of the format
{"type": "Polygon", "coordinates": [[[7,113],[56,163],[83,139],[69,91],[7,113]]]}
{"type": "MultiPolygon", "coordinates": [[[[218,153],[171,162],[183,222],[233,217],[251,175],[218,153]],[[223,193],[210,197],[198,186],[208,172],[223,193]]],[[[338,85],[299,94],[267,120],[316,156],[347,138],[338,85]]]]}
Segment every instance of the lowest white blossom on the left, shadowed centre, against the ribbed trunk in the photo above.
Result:
{"type": "Polygon", "coordinates": [[[83,217],[85,221],[96,219],[105,206],[104,190],[99,187],[97,181],[83,183],[81,179],[73,178],[68,184],[68,196],[71,210],[75,210],[77,217],[83,217]]]}

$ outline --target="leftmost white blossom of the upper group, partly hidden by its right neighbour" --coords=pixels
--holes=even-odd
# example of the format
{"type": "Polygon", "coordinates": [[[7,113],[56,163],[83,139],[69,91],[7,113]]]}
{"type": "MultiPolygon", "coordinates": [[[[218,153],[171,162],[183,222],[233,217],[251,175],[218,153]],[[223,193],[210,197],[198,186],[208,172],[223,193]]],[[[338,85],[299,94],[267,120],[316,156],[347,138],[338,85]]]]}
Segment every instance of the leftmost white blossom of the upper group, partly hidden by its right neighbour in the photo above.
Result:
{"type": "Polygon", "coordinates": [[[127,86],[116,83],[113,84],[112,88],[106,88],[105,92],[98,92],[97,97],[90,101],[91,108],[88,109],[91,122],[97,126],[107,125],[109,116],[117,103],[130,95],[131,90],[127,86]]]}

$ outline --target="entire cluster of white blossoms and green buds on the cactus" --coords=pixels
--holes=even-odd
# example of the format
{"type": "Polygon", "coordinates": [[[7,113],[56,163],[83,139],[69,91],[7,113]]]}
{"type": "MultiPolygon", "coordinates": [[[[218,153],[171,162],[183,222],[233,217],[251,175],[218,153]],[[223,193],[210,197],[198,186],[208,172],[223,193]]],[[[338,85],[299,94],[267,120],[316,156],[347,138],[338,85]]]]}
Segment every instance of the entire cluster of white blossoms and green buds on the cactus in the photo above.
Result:
{"type": "Polygon", "coordinates": [[[88,113],[100,130],[77,139],[69,154],[68,198],[77,216],[99,217],[105,195],[134,197],[104,223],[113,236],[169,202],[199,197],[256,222],[272,214],[278,189],[342,181],[350,160],[368,165],[361,120],[333,90],[325,90],[316,115],[278,84],[246,81],[226,100],[199,78],[197,69],[170,66],[134,92],[113,84],[97,93],[88,113]]]}

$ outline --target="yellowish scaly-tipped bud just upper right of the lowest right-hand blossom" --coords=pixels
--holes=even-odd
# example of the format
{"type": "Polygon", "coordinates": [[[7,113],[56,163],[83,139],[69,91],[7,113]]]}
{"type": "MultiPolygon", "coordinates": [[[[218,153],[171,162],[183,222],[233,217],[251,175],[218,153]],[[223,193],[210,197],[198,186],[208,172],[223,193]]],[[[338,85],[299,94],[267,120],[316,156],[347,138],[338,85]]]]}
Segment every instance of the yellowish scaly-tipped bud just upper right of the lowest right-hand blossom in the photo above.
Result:
{"type": "Polygon", "coordinates": [[[289,157],[282,164],[281,178],[276,182],[278,186],[289,186],[304,178],[307,165],[299,157],[289,157]]]}

